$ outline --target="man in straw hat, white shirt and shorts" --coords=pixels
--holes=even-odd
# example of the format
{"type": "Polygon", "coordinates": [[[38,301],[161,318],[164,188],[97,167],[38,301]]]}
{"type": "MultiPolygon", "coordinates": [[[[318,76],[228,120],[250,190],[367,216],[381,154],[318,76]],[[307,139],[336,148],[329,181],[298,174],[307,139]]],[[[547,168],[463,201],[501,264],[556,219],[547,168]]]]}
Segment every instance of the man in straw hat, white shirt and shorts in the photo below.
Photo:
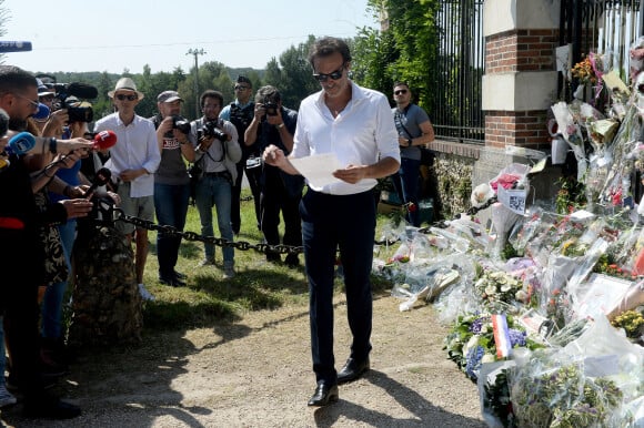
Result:
{"type": "MultiPolygon", "coordinates": [[[[157,132],[149,120],[134,113],[134,108],[143,99],[137,91],[137,85],[130,78],[121,78],[113,91],[108,92],[117,108],[112,113],[99,121],[95,132],[111,130],[117,134],[117,144],[110,149],[110,160],[105,167],[117,180],[121,208],[127,215],[133,215],[147,221],[154,221],[154,172],[161,162],[157,132]]],[[[148,231],[135,228],[131,223],[117,222],[130,242],[137,244],[134,268],[139,291],[144,299],[154,299],[143,285],[143,272],[148,258],[148,231]]]]}

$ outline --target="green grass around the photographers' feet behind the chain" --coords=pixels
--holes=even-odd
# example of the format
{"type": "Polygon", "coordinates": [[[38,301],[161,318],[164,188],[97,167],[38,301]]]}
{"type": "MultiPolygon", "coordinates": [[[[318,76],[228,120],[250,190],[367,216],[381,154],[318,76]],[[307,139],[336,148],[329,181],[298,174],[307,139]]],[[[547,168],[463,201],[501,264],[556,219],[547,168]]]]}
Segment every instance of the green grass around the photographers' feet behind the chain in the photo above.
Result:
{"type": "MultiPolygon", "coordinates": [[[[252,245],[262,242],[256,228],[253,201],[249,191],[242,192],[242,226],[235,242],[245,241],[252,245]]],[[[215,213],[214,213],[215,215],[215,213]]],[[[385,217],[379,220],[386,221],[385,217]]],[[[282,226],[280,234],[283,234],[282,226]]],[[[187,232],[200,234],[199,214],[194,206],[188,210],[187,232]]],[[[217,231],[215,223],[215,235],[217,231]]],[[[234,322],[244,313],[276,309],[286,305],[306,305],[308,284],[304,275],[303,254],[299,268],[268,263],[265,256],[255,249],[235,249],[235,272],[232,279],[223,279],[221,247],[215,247],[215,266],[198,267],[203,258],[203,243],[182,241],[177,271],[188,275],[187,287],[169,287],[159,283],[157,261],[157,233],[149,232],[150,253],[145,265],[144,283],[157,297],[145,304],[145,328],[174,329],[210,326],[214,323],[234,322]]],[[[283,258],[284,256],[282,256],[283,258]]],[[[389,287],[384,281],[374,278],[374,293],[389,287]]],[[[336,289],[342,282],[336,281],[336,289]]]]}

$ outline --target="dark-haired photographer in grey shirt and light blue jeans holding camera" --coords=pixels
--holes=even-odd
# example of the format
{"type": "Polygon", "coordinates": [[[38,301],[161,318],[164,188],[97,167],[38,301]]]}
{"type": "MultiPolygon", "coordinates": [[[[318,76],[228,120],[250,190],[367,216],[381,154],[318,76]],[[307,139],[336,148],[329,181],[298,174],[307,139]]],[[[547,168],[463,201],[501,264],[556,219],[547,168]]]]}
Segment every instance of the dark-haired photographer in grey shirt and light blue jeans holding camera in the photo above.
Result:
{"type": "MultiPolygon", "coordinates": [[[[232,242],[230,222],[232,185],[237,180],[237,163],[242,151],[238,142],[235,126],[219,118],[223,106],[223,95],[219,91],[207,90],[199,99],[203,116],[191,122],[190,142],[195,149],[193,169],[198,174],[194,201],[201,221],[201,235],[214,236],[212,228],[212,206],[217,208],[217,224],[221,237],[232,242]]],[[[205,257],[200,266],[214,265],[214,244],[204,243],[205,257]]],[[[224,246],[223,277],[234,276],[234,248],[224,246]]]]}

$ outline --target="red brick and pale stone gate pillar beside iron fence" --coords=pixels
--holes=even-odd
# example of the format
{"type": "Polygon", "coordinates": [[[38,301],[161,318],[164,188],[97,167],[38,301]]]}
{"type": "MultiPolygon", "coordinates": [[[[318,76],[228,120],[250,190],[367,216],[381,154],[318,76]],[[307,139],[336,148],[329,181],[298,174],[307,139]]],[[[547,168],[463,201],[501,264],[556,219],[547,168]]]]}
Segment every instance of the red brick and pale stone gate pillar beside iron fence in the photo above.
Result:
{"type": "Polygon", "coordinates": [[[486,0],[483,22],[485,145],[550,149],[546,115],[556,99],[559,2],[486,0]]]}

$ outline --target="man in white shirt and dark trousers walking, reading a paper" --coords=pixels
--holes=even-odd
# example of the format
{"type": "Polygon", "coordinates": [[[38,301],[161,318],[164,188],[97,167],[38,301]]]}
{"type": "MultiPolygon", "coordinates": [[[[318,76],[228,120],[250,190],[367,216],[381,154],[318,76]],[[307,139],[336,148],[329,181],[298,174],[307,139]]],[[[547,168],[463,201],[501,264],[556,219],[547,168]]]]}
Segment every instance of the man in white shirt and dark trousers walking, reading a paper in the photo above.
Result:
{"type": "MultiPolygon", "coordinates": [[[[398,132],[386,96],[349,79],[351,53],[342,39],[315,41],[309,57],[322,90],[302,101],[289,157],[333,153],[344,167],[333,172],[336,183],[309,191],[300,204],[302,242],[309,278],[311,354],[318,386],[309,406],[326,406],[339,398],[338,385],[370,369],[373,302],[371,266],[375,237],[376,179],[398,171],[398,132]],[[344,268],[351,355],[340,373],[333,355],[333,266],[340,249],[344,268]]],[[[263,154],[266,163],[298,174],[275,145],[263,154]]]]}

